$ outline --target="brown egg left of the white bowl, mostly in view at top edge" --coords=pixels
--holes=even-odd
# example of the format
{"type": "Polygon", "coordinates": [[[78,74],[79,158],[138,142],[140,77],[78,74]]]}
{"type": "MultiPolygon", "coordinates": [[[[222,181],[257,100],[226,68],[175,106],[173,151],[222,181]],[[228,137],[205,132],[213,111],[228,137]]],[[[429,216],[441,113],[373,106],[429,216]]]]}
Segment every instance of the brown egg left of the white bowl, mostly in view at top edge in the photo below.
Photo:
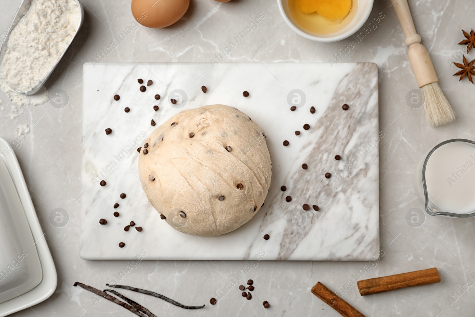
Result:
{"type": "Polygon", "coordinates": [[[165,28],[188,10],[190,0],[132,0],[133,17],[145,27],[165,28]]]}

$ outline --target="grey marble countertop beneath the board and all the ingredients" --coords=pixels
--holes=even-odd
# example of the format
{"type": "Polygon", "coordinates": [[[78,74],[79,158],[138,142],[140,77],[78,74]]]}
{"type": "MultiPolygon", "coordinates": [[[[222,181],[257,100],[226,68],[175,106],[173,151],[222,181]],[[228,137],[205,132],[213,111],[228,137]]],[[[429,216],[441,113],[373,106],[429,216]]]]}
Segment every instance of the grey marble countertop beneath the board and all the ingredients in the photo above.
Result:
{"type": "MultiPolygon", "coordinates": [[[[0,32],[8,29],[19,0],[3,1],[0,32]]],[[[57,267],[53,296],[15,316],[132,316],[130,312],[92,293],[73,287],[75,281],[98,288],[122,273],[120,283],[152,289],[188,305],[206,303],[202,311],[188,311],[157,298],[133,297],[157,316],[339,316],[310,289],[321,281],[365,316],[469,316],[475,308],[475,219],[426,216],[422,226],[409,226],[406,215],[423,209],[414,186],[414,170],[421,157],[437,143],[461,137],[475,138],[474,86],[458,82],[450,62],[460,61],[464,46],[461,29],[473,25],[475,4],[469,0],[410,1],[418,33],[435,63],[439,84],[459,117],[445,127],[430,128],[423,108],[406,104],[409,90],[417,88],[403,34],[390,0],[375,1],[370,19],[382,16],[361,40],[348,38],[332,44],[298,37],[281,18],[274,0],[191,0],[190,9],[167,29],[133,29],[119,43],[115,38],[134,22],[130,1],[85,0],[85,22],[65,57],[47,81],[47,89],[63,89],[69,104],[57,109],[45,103],[19,108],[10,118],[10,102],[1,95],[0,134],[15,141],[19,125],[30,133],[19,142],[19,159],[39,221],[57,267]],[[248,264],[245,261],[88,261],[79,258],[81,197],[82,65],[101,50],[117,44],[104,62],[209,62],[229,46],[260,12],[265,18],[223,58],[225,62],[374,62],[380,84],[380,243],[381,258],[374,262],[259,261],[245,275],[255,281],[254,298],[241,298],[231,288],[214,307],[209,298],[248,264]],[[354,47],[349,49],[350,42],[354,47]],[[341,54],[341,51],[349,53],[341,54]],[[340,51],[341,50],[341,51],[340,51]],[[66,226],[49,221],[51,211],[63,208],[66,226]],[[131,265],[131,266],[128,266],[131,265]],[[437,267],[439,284],[361,297],[349,280],[373,278],[437,267]],[[464,290],[465,289],[465,290],[464,290]],[[271,309],[264,309],[267,300],[271,309]],[[202,314],[202,315],[200,315],[202,314]],[[320,315],[319,315],[320,314],[320,315]]],[[[3,37],[2,37],[3,38],[3,37]]],[[[475,58],[475,52],[468,55],[475,58]]],[[[242,280],[241,280],[242,281],[242,280]]],[[[239,282],[240,283],[240,282],[239,282]]]]}

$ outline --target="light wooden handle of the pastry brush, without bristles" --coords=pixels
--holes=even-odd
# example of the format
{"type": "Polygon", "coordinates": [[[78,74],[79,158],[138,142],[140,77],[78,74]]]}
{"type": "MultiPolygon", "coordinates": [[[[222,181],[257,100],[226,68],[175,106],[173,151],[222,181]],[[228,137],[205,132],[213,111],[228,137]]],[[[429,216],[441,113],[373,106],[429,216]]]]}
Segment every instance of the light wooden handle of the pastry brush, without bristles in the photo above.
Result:
{"type": "Polygon", "coordinates": [[[404,43],[409,46],[408,57],[411,63],[412,71],[416,76],[419,87],[437,82],[437,74],[434,64],[430,59],[429,52],[420,44],[420,35],[417,34],[414,21],[412,20],[411,11],[409,10],[408,0],[395,0],[392,4],[399,24],[406,39],[404,43]]]}

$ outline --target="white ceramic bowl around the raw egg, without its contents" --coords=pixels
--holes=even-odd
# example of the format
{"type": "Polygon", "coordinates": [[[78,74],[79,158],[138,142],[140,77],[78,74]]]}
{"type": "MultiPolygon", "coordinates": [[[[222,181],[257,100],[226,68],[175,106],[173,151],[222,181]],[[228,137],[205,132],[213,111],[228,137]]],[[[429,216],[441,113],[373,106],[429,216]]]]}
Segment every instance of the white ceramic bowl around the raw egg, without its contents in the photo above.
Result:
{"type": "Polygon", "coordinates": [[[357,30],[359,30],[363,24],[366,22],[368,17],[370,16],[371,10],[373,9],[373,1],[374,0],[353,0],[359,1],[358,9],[356,11],[356,15],[354,16],[353,20],[343,29],[339,30],[338,32],[332,34],[314,34],[308,32],[295,23],[294,18],[290,14],[290,10],[288,7],[287,0],[278,0],[279,1],[279,10],[280,14],[284,18],[287,25],[298,35],[303,38],[310,39],[316,42],[324,42],[324,43],[331,43],[340,41],[342,39],[348,38],[352,36],[357,30]]]}

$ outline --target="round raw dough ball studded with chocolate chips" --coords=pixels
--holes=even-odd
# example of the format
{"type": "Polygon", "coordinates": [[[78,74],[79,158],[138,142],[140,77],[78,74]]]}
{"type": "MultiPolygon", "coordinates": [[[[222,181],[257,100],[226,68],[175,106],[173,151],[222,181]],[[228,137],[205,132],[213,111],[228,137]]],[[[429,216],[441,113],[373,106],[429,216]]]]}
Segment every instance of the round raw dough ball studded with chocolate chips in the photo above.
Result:
{"type": "Polygon", "coordinates": [[[217,236],[257,213],[272,167],[261,128],[234,107],[212,105],[184,110],[153,131],[139,174],[149,202],[173,228],[217,236]]]}

